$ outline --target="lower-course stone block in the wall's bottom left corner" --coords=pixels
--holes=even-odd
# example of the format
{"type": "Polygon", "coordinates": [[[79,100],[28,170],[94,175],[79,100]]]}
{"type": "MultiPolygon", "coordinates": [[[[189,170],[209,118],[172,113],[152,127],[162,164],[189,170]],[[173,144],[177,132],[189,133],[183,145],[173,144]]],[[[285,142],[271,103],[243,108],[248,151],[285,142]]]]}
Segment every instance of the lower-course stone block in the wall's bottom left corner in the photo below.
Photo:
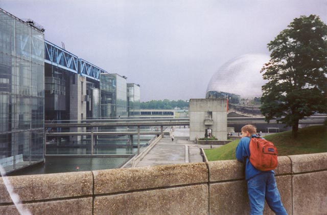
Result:
{"type": "MultiPolygon", "coordinates": [[[[69,214],[69,215],[92,215],[92,197],[80,199],[67,199],[49,202],[36,202],[20,205],[25,210],[24,215],[55,215],[55,214],[69,214]],[[26,212],[27,211],[27,212],[26,212]]],[[[0,214],[19,215],[15,205],[0,206],[0,214]]]]}

